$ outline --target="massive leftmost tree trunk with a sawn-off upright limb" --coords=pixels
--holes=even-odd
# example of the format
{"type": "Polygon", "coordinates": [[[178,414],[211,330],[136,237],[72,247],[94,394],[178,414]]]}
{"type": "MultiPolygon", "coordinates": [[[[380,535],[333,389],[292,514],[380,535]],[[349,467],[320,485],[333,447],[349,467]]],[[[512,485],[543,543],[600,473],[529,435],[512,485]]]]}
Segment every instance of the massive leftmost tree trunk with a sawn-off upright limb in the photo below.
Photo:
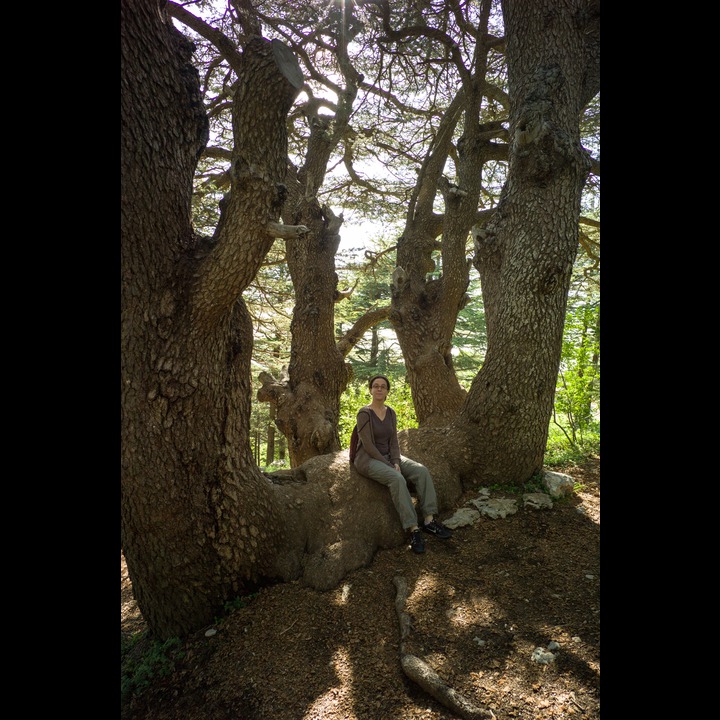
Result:
{"type": "Polygon", "coordinates": [[[282,210],[301,75],[276,43],[255,38],[238,55],[244,142],[218,231],[200,242],[190,199],[208,124],[192,47],[156,0],[121,7],[121,538],[143,617],[167,637],[210,622],[271,571],[281,542],[279,501],[248,437],[240,295],[282,210]]]}

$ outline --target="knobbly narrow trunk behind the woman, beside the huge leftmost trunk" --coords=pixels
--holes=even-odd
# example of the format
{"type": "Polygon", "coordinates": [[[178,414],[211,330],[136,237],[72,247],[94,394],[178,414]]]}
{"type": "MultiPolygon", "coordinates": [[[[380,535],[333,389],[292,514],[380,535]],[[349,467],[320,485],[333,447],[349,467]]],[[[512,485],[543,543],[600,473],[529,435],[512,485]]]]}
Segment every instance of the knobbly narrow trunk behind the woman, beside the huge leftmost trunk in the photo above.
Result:
{"type": "MultiPolygon", "coordinates": [[[[345,13],[343,17],[347,24],[345,13]]],[[[344,37],[344,32],[338,36],[344,37]]],[[[332,117],[306,113],[310,137],[305,162],[291,168],[287,177],[285,221],[308,228],[285,243],[295,294],[287,377],[281,380],[263,373],[257,396],[275,407],[275,422],[287,438],[291,467],[340,449],[340,397],[350,377],[335,336],[339,294],[335,255],[343,219],[321,206],[317,198],[330,156],[347,130],[361,81],[340,43],[337,52],[345,87],[336,112],[332,117]]]]}

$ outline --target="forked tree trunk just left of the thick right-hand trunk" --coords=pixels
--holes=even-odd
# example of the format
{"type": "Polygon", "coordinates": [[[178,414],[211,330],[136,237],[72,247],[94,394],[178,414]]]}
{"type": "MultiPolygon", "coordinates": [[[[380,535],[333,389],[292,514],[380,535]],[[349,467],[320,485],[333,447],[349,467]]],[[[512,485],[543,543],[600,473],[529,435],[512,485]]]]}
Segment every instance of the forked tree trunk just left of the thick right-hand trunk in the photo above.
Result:
{"type": "Polygon", "coordinates": [[[458,61],[463,84],[446,110],[423,163],[398,241],[390,319],[403,350],[420,427],[447,425],[457,417],[465,400],[465,390],[453,367],[452,335],[457,315],[468,299],[466,245],[470,228],[478,221],[483,164],[504,159],[507,152],[491,142],[504,135],[500,123],[479,122],[482,99],[489,89],[485,74],[493,42],[487,32],[490,5],[485,2],[483,6],[473,67],[465,69],[458,61]],[[455,186],[443,171],[460,120],[464,127],[457,148],[459,184],[455,186]],[[434,213],[438,190],[445,205],[442,216],[434,213]],[[439,242],[438,236],[442,236],[439,242]],[[436,271],[433,255],[441,262],[439,277],[428,277],[436,271]]]}

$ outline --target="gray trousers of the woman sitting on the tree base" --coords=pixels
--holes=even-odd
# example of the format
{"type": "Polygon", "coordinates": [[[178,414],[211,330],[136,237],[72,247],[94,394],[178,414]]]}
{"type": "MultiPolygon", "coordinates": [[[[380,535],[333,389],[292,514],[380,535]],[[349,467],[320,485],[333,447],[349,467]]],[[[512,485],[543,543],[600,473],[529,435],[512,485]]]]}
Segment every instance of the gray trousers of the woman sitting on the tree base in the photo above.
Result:
{"type": "Polygon", "coordinates": [[[390,490],[393,505],[400,516],[403,530],[418,524],[417,512],[405,480],[410,480],[417,489],[418,502],[425,515],[437,514],[437,496],[430,471],[418,462],[400,456],[400,472],[380,460],[371,458],[368,462],[368,477],[390,490]]]}

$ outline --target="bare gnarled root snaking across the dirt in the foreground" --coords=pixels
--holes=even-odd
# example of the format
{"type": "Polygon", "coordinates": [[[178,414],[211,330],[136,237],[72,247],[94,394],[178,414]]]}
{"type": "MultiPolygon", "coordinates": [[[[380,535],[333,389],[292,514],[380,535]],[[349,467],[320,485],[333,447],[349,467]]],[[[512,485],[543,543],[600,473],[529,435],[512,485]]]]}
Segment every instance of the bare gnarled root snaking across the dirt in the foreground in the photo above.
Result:
{"type": "Polygon", "coordinates": [[[411,629],[410,617],[405,612],[407,583],[405,578],[400,576],[395,577],[393,583],[397,589],[395,612],[400,622],[400,665],[405,675],[463,720],[495,720],[492,710],[473,705],[463,695],[448,687],[424,660],[405,652],[404,640],[410,634],[411,629]]]}

